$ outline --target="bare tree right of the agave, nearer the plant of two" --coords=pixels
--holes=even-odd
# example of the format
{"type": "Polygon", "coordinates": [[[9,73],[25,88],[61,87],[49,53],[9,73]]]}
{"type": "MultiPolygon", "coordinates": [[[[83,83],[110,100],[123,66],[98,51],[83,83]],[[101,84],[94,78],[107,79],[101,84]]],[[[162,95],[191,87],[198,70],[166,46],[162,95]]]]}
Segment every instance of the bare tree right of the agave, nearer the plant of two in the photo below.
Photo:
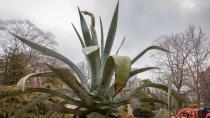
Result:
{"type": "Polygon", "coordinates": [[[165,72],[171,73],[172,83],[176,90],[181,93],[185,84],[186,60],[191,51],[191,48],[188,46],[189,41],[185,40],[183,33],[177,33],[162,36],[157,40],[157,43],[170,51],[154,54],[158,66],[164,70],[164,72],[161,72],[161,76],[165,72]]]}

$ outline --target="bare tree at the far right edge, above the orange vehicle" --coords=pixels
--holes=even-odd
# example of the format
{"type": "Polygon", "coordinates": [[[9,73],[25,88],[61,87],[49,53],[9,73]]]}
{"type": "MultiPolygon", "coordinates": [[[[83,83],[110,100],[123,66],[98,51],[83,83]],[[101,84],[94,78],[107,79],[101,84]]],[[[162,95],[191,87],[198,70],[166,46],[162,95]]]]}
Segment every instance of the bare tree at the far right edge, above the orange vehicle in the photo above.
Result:
{"type": "Polygon", "coordinates": [[[190,25],[185,32],[186,38],[190,41],[192,47],[189,58],[187,59],[187,68],[189,70],[188,86],[191,88],[191,92],[195,94],[198,104],[201,102],[201,87],[200,77],[201,72],[208,67],[209,54],[210,54],[210,40],[199,28],[196,32],[195,26],[190,25]]]}

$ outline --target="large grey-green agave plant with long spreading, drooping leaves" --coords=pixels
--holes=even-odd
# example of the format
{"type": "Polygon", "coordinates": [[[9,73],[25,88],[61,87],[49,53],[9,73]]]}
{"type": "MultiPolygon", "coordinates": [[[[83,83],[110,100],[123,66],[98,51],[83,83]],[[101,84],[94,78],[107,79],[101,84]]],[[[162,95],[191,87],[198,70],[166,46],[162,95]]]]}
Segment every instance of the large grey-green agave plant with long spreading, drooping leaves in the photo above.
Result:
{"type": "MultiPolygon", "coordinates": [[[[103,33],[103,25],[100,19],[100,38],[101,43],[99,46],[97,35],[94,28],[89,30],[87,23],[84,19],[84,16],[80,9],[80,23],[82,35],[79,34],[76,27],[73,25],[73,28],[78,36],[78,39],[82,46],[82,51],[87,59],[88,66],[91,72],[91,84],[88,85],[87,77],[82,73],[82,71],[74,64],[71,60],[66,58],[65,56],[59,54],[58,52],[51,50],[47,47],[41,46],[37,43],[34,43],[30,40],[24,39],[16,34],[11,33],[14,37],[19,39],[24,44],[29,47],[41,52],[43,55],[47,55],[53,58],[56,58],[66,65],[68,65],[71,69],[66,68],[57,68],[51,65],[49,67],[50,71],[47,72],[38,72],[29,74],[19,80],[17,83],[17,90],[7,91],[4,95],[5,97],[11,97],[16,95],[22,95],[31,92],[40,92],[43,93],[35,98],[31,103],[22,107],[20,112],[17,112],[14,116],[20,117],[23,113],[27,112],[33,106],[38,103],[47,100],[52,96],[57,96],[63,99],[63,102],[60,104],[55,104],[52,102],[47,102],[49,105],[49,112],[46,113],[46,117],[50,117],[54,112],[61,113],[69,113],[74,114],[77,117],[86,117],[91,113],[98,113],[102,116],[111,116],[118,117],[116,115],[116,109],[122,105],[129,104],[131,97],[137,97],[139,102],[154,102],[154,103],[162,103],[166,104],[163,101],[158,100],[155,97],[147,96],[142,97],[135,96],[135,93],[143,92],[142,89],[146,87],[155,87],[164,91],[168,91],[168,86],[155,84],[149,81],[143,81],[141,86],[133,91],[130,97],[126,97],[125,99],[116,99],[116,96],[122,91],[122,89],[126,86],[127,81],[130,77],[139,74],[141,72],[156,69],[156,67],[146,67],[146,68],[138,68],[131,69],[132,64],[134,64],[139,58],[141,58],[145,53],[149,50],[160,50],[167,51],[158,46],[150,46],[140,52],[133,59],[130,59],[127,56],[118,56],[111,55],[111,49],[114,42],[117,22],[118,22],[118,9],[119,9],[119,1],[117,3],[116,9],[114,11],[114,15],[111,21],[111,25],[109,27],[109,31],[104,40],[103,33]],[[25,87],[26,81],[28,79],[33,79],[34,77],[57,77],[61,81],[63,81],[69,88],[71,88],[79,99],[72,98],[71,96],[67,96],[66,90],[63,89],[47,89],[47,88],[30,88],[25,87]],[[114,76],[114,77],[113,77],[114,76]],[[114,78],[114,82],[111,80],[114,78]],[[68,108],[65,107],[66,104],[75,105],[76,108],[68,108]]],[[[2,93],[2,92],[1,92],[2,93]]],[[[172,90],[172,95],[178,101],[183,101],[180,96],[177,95],[177,92],[172,90]]],[[[180,103],[181,104],[181,103],[180,103]]],[[[167,105],[167,104],[166,104],[167,105]]]]}

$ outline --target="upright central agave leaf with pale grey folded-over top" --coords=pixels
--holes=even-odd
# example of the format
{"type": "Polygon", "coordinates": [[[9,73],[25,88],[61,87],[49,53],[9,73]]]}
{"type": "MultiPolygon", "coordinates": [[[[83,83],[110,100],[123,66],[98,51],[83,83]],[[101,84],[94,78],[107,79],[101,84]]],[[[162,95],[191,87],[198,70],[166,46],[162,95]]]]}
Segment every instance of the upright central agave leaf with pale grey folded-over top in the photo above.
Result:
{"type": "Polygon", "coordinates": [[[100,52],[98,46],[89,46],[83,48],[84,54],[87,56],[87,61],[91,69],[92,82],[91,90],[96,90],[100,83],[100,52]]]}

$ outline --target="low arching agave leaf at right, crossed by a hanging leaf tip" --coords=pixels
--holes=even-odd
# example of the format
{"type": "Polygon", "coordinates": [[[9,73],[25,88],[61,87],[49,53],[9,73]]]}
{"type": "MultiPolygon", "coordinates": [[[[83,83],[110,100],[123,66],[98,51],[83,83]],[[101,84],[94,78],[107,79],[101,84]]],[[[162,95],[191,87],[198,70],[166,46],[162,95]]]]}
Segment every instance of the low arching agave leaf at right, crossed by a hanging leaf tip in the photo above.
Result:
{"type": "MultiPolygon", "coordinates": [[[[156,84],[156,83],[152,83],[152,82],[145,82],[145,83],[143,83],[135,91],[139,91],[139,90],[147,88],[147,87],[157,88],[157,89],[163,90],[165,92],[168,92],[168,86],[163,85],[163,84],[156,84]]],[[[174,89],[171,89],[171,94],[176,99],[176,101],[179,103],[179,105],[181,105],[185,101],[181,97],[181,95],[178,92],[176,92],[174,89]]]]}

